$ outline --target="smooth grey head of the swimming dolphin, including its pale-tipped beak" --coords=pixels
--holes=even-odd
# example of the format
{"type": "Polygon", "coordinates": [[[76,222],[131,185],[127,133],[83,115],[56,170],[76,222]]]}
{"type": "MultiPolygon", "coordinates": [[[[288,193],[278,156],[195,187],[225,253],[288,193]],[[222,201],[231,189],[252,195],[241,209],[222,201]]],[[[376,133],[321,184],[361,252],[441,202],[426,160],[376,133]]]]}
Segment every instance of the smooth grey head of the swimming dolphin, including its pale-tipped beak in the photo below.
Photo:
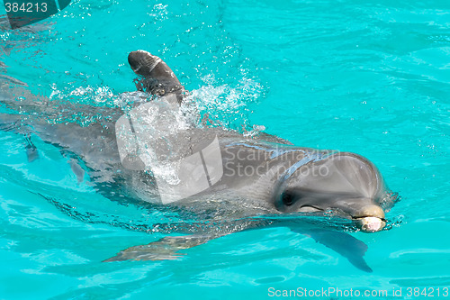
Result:
{"type": "Polygon", "coordinates": [[[281,213],[333,212],[363,232],[385,226],[383,178],[369,160],[348,152],[315,159],[285,177],[275,193],[281,213]]]}

